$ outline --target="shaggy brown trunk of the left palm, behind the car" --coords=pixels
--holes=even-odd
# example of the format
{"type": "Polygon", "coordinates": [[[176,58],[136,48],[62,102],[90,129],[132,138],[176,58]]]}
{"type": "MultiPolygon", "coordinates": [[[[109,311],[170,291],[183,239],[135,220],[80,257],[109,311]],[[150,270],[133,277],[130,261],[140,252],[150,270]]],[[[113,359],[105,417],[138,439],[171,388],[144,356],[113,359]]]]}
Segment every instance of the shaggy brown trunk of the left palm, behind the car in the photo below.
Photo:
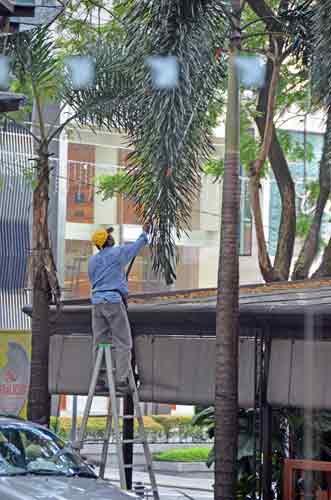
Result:
{"type": "Polygon", "coordinates": [[[37,186],[33,192],[32,228],[32,353],[28,417],[34,422],[49,424],[48,393],[49,303],[58,293],[56,269],[48,234],[49,163],[48,145],[38,150],[37,186]]]}

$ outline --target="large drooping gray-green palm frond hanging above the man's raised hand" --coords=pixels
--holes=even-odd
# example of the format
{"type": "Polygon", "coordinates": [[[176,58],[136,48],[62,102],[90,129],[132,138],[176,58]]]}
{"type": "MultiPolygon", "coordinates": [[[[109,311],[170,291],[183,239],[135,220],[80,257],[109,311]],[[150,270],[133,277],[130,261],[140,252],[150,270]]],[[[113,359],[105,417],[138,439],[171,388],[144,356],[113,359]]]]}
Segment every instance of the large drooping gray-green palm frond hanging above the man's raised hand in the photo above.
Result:
{"type": "Polygon", "coordinates": [[[126,104],[134,184],[129,193],[142,220],[151,220],[153,267],[175,278],[175,239],[190,226],[203,162],[210,156],[209,107],[219,98],[226,19],[220,0],[128,0],[127,68],[134,82],[126,104]],[[146,58],[175,56],[179,83],[155,89],[146,58]]]}

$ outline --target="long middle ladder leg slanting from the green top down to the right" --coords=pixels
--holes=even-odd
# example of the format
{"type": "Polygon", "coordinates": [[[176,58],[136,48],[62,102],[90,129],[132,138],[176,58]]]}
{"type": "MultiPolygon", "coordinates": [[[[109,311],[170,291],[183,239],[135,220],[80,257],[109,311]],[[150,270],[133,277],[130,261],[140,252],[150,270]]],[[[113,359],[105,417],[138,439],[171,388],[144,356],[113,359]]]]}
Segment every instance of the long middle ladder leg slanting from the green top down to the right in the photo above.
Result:
{"type": "Polygon", "coordinates": [[[116,448],[117,448],[117,460],[119,465],[120,472],[120,484],[123,490],[127,489],[126,477],[124,471],[124,457],[123,457],[123,449],[121,445],[121,436],[119,429],[119,418],[118,418],[118,410],[117,410],[117,400],[116,400],[116,387],[113,376],[113,362],[111,358],[111,346],[108,345],[108,348],[105,349],[106,355],[106,367],[107,367],[107,376],[108,376],[108,385],[109,385],[109,396],[111,400],[111,406],[113,410],[113,419],[114,419],[114,433],[116,439],[116,448]]]}

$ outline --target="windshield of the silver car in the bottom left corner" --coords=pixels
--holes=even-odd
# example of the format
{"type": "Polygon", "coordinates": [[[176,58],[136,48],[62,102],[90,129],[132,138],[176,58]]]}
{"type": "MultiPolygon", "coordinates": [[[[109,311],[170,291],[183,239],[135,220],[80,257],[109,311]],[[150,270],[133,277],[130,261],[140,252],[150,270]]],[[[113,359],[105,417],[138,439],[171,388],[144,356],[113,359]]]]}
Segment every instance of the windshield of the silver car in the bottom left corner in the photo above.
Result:
{"type": "Polygon", "coordinates": [[[0,476],[23,474],[96,477],[93,470],[47,429],[0,426],[0,476]]]}

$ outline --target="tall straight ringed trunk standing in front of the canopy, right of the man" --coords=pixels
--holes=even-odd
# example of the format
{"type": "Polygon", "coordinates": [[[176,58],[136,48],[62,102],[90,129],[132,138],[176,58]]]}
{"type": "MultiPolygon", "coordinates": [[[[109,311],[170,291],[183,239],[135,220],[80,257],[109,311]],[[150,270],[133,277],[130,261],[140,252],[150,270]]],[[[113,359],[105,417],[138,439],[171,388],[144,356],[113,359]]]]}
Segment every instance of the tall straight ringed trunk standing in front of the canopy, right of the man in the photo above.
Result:
{"type": "MultiPolygon", "coordinates": [[[[232,0],[232,8],[236,15],[234,19],[239,24],[240,1],[232,0]]],[[[235,70],[235,55],[238,45],[239,40],[233,38],[229,54],[225,168],[216,310],[215,499],[217,500],[234,500],[236,493],[240,93],[235,70]]]]}

